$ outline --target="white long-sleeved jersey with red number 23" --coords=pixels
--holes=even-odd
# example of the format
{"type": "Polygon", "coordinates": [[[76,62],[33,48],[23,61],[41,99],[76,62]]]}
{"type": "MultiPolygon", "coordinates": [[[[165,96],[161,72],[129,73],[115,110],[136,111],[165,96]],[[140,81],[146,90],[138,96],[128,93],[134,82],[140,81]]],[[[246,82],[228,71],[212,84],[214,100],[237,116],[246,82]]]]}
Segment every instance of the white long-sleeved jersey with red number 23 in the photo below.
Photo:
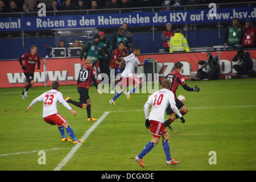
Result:
{"type": "Polygon", "coordinates": [[[38,101],[43,101],[43,118],[48,115],[57,114],[57,104],[59,102],[67,107],[67,109],[72,109],[64,100],[62,93],[55,89],[44,92],[41,96],[35,98],[31,102],[30,106],[34,105],[38,101]]]}

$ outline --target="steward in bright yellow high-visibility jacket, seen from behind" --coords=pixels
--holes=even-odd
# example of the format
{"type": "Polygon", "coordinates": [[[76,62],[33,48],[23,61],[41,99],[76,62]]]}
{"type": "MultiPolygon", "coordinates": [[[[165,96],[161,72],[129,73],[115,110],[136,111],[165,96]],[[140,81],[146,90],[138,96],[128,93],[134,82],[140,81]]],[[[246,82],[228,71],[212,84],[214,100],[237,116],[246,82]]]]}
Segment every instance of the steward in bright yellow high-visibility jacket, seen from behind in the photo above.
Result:
{"type": "Polygon", "coordinates": [[[182,30],[180,28],[177,28],[176,33],[170,40],[169,46],[170,52],[190,52],[188,41],[182,34],[182,30]]]}

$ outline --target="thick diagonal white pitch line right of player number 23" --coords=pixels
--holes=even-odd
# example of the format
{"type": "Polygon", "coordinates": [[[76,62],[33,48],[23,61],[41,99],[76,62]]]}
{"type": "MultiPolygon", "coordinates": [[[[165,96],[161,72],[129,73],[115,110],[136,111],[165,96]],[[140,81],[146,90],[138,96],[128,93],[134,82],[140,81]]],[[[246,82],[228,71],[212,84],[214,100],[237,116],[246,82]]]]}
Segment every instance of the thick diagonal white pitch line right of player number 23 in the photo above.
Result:
{"type": "MultiPolygon", "coordinates": [[[[88,131],[86,131],[86,133],[84,134],[84,136],[81,138],[81,140],[85,140],[86,138],[89,137],[90,133],[92,133],[92,131],[94,129],[96,129],[96,127],[98,125],[100,125],[100,123],[103,121],[103,119],[106,118],[106,116],[109,114],[110,112],[105,112],[100,119],[98,119],[98,121],[96,123],[94,123],[94,125],[92,127],[90,127],[90,129],[88,131]]],[[[79,149],[79,147],[81,146],[82,143],[77,143],[75,147],[72,148],[72,150],[68,153],[67,156],[65,156],[65,158],[60,162],[60,164],[54,169],[54,171],[60,171],[61,168],[63,168],[65,166],[65,164],[67,164],[67,162],[69,161],[69,159],[72,158],[72,156],[75,154],[75,152],[79,149]]]]}

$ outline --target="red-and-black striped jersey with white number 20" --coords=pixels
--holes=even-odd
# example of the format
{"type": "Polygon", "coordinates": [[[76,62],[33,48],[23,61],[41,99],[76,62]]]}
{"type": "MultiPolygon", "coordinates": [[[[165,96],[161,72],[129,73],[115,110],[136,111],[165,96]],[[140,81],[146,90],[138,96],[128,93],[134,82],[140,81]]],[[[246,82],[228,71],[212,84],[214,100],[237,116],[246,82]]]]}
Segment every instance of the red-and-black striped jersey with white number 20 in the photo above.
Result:
{"type": "Polygon", "coordinates": [[[90,84],[93,81],[94,85],[97,88],[98,85],[97,85],[95,75],[96,75],[96,72],[93,69],[93,67],[91,67],[90,65],[86,65],[85,67],[80,69],[79,78],[77,80],[77,84],[78,84],[77,86],[89,89],[90,84]]]}

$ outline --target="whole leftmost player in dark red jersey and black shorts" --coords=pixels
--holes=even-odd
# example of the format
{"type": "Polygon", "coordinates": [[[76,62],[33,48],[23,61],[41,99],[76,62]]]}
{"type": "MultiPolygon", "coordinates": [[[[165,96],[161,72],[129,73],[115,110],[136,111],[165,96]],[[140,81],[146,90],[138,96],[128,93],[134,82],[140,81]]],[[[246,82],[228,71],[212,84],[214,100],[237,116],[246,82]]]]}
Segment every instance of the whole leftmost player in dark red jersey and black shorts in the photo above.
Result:
{"type": "Polygon", "coordinates": [[[37,69],[40,69],[40,56],[37,52],[38,48],[33,45],[31,46],[31,52],[25,53],[19,58],[19,63],[24,70],[23,73],[26,76],[27,81],[23,92],[20,94],[20,97],[22,97],[23,100],[26,100],[28,89],[30,89],[30,87],[35,83],[34,72],[36,63],[38,63],[37,69]],[[23,65],[22,60],[25,60],[25,65],[23,65]]]}

